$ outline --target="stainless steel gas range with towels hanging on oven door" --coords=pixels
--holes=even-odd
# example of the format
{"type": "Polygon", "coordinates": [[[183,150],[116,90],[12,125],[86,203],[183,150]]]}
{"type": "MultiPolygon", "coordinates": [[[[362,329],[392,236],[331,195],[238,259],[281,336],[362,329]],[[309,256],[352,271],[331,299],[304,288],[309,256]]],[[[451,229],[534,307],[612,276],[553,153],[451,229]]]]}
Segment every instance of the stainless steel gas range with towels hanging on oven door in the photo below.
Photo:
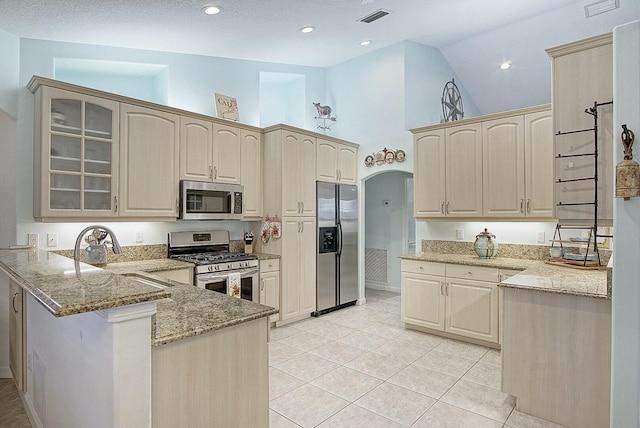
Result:
{"type": "Polygon", "coordinates": [[[195,286],[259,301],[258,257],[229,252],[229,231],[170,232],[168,249],[170,258],[196,265],[195,286]]]}

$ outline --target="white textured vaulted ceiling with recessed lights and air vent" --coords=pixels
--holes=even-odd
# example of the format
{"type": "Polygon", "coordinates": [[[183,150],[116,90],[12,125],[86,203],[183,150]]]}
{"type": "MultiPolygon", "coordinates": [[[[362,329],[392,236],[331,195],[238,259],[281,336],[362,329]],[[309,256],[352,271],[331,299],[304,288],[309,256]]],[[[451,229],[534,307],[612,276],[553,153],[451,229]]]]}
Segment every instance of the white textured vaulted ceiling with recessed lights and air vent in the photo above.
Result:
{"type": "MultiPolygon", "coordinates": [[[[500,56],[524,70],[507,56],[539,61],[546,47],[640,19],[640,0],[619,0],[616,11],[587,19],[584,6],[596,1],[0,0],[0,29],[24,38],[318,67],[409,40],[440,49],[475,100],[481,92],[497,91],[488,83],[474,89],[483,63],[493,73],[500,56]],[[204,15],[206,4],[220,5],[223,12],[204,15]],[[370,24],[358,22],[379,9],[391,13],[370,24]],[[307,25],[316,31],[298,31],[307,25]],[[372,43],[360,46],[365,39],[372,43]],[[517,52],[506,52],[504,43],[517,45],[517,52]]],[[[484,112],[499,108],[477,103],[484,112]]]]}

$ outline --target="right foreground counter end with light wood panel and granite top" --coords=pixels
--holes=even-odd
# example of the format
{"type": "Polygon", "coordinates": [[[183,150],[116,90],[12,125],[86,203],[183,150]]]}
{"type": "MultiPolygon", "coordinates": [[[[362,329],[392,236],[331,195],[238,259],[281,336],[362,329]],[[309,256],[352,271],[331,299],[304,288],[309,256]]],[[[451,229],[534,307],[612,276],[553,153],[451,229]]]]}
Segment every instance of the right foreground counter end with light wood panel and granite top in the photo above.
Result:
{"type": "Polygon", "coordinates": [[[611,300],[606,274],[542,269],[501,283],[502,391],[516,397],[521,412],[568,427],[607,427],[611,300]]]}

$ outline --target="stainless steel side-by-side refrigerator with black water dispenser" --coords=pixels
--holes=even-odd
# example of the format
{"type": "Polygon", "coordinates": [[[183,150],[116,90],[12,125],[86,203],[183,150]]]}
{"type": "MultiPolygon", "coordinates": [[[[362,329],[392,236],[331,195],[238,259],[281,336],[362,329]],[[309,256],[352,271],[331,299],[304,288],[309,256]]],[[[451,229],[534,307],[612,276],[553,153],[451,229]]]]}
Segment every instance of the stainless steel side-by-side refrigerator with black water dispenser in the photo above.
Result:
{"type": "Polygon", "coordinates": [[[317,308],[323,313],[358,299],[358,188],[317,183],[317,308]]]}

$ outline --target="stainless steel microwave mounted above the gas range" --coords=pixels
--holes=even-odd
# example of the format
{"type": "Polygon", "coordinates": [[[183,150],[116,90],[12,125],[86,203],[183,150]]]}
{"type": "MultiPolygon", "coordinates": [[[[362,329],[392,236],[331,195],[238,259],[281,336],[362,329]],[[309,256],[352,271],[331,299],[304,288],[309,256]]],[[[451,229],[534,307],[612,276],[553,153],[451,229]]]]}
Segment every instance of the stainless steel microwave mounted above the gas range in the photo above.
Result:
{"type": "Polygon", "coordinates": [[[180,214],[182,220],[240,220],[242,193],[239,184],[180,181],[180,214]]]}

